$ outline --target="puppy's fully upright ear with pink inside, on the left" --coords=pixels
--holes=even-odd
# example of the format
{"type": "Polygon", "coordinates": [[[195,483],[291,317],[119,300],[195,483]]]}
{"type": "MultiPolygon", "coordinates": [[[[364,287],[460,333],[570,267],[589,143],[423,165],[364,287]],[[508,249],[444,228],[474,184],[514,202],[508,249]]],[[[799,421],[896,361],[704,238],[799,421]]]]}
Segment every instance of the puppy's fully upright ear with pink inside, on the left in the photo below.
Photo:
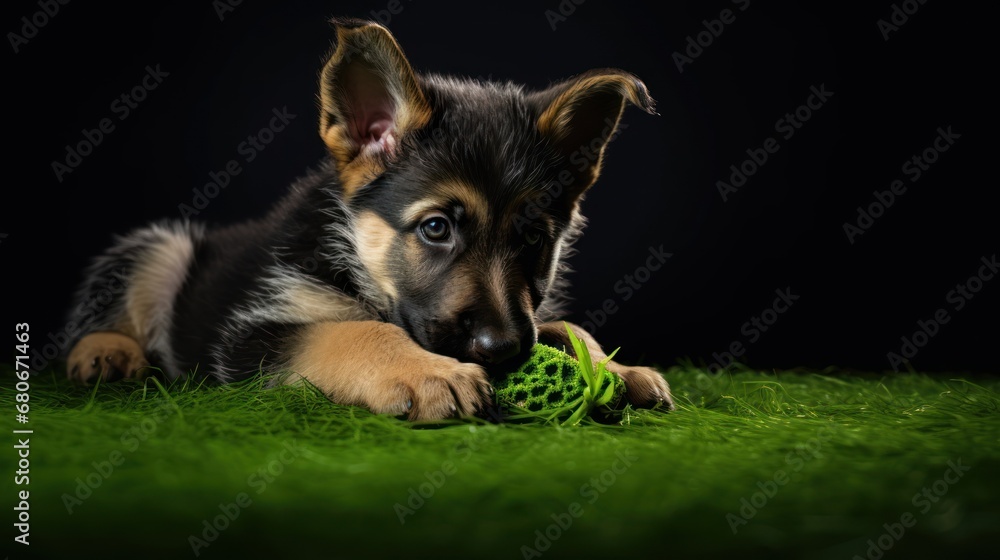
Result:
{"type": "Polygon", "coordinates": [[[385,171],[400,139],[431,110],[402,49],[381,25],[335,19],[336,49],[320,75],[319,133],[348,195],[385,171]]]}

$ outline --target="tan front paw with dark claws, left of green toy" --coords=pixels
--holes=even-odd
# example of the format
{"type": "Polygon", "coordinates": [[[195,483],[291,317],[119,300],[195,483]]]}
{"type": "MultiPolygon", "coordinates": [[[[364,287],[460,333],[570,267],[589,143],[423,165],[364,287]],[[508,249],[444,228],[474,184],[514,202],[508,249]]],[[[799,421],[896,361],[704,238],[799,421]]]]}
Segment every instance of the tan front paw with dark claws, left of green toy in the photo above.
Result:
{"type": "Polygon", "coordinates": [[[492,388],[483,368],[425,353],[373,386],[365,399],[377,414],[405,414],[410,420],[472,416],[487,409],[492,388]]]}

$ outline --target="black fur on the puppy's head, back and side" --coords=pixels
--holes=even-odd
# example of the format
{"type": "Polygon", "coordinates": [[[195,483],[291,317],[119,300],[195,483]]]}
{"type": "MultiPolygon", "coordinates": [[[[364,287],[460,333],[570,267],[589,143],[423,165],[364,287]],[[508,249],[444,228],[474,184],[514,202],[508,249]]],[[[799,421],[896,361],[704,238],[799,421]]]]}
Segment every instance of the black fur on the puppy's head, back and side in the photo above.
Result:
{"type": "MultiPolygon", "coordinates": [[[[422,285],[401,282],[399,297],[387,299],[361,265],[352,238],[353,218],[363,211],[376,213],[399,232],[412,231],[415,224],[404,223],[403,210],[431,185],[446,180],[477,189],[489,202],[491,219],[463,228],[460,254],[440,262],[428,257],[428,267],[445,276],[453,273],[456,263],[474,267],[476,259],[509,251],[513,256],[508,274],[527,286],[531,305],[514,301],[512,292],[508,307],[514,310],[508,323],[520,333],[522,354],[530,349],[534,324],[554,318],[558,311],[561,274],[555,275],[555,282],[549,274],[551,266],[561,266],[553,264],[560,257],[555,249],[561,246],[565,258],[583,225],[577,205],[587,185],[566,188],[561,172],[574,166],[565,147],[537,126],[542,112],[565,87],[529,94],[509,83],[441,76],[418,81],[430,105],[430,122],[401,138],[386,171],[348,200],[335,164],[326,161],[293,184],[262,219],[207,232],[187,223],[169,226],[187,232],[194,246],[193,262],[173,301],[170,355],[159,357],[173,370],[169,376],[197,371],[231,381],[281,369],[289,341],[305,323],[269,312],[275,290],[292,281],[346,295],[358,314],[403,327],[428,350],[476,360],[467,339],[481,311],[477,306],[457,312],[461,320],[453,324],[438,325],[437,316],[428,311],[440,303],[434,301],[440,296],[431,288],[437,279],[430,276],[422,285]],[[536,205],[543,216],[526,214],[526,204],[538,200],[545,201],[536,205]],[[541,232],[544,239],[537,246],[526,245],[526,229],[541,232]]],[[[640,90],[648,98],[645,88],[640,90]]],[[[620,112],[623,101],[618,99],[620,112]]],[[[644,102],[651,110],[652,100],[644,102]]],[[[617,114],[614,118],[617,122],[617,114]]],[[[458,214],[449,218],[456,224],[468,219],[458,214]]],[[[79,301],[92,298],[113,271],[131,271],[147,237],[145,230],[134,232],[101,257],[88,272],[79,301]]],[[[121,312],[120,302],[97,313],[78,306],[71,320],[87,325],[82,334],[113,330],[121,312]]]]}

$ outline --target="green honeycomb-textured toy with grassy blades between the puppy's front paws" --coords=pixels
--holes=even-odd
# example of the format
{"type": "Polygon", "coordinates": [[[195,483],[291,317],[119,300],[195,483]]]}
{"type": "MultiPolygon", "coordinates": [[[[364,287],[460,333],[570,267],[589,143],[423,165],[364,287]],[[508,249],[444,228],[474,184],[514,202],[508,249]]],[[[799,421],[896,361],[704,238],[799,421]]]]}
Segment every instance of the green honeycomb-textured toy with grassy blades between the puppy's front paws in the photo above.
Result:
{"type": "Polygon", "coordinates": [[[572,331],[567,331],[577,355],[584,361],[557,348],[536,344],[521,367],[494,382],[497,403],[523,411],[512,418],[555,420],[568,416],[563,425],[574,425],[597,407],[614,408],[622,402],[625,383],[605,369],[614,352],[592,365],[587,347],[572,331]]]}

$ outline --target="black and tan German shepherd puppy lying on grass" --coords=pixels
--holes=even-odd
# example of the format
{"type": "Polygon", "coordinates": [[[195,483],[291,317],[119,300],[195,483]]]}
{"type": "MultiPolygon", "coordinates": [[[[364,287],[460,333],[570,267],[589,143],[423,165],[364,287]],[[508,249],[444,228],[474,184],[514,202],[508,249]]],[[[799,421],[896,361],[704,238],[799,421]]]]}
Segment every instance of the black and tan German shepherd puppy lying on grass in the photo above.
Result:
{"type": "MultiPolygon", "coordinates": [[[[87,271],[70,378],[189,372],[305,379],[332,401],[410,419],[491,406],[488,371],[539,338],[569,347],[562,260],[605,145],[645,85],[594,70],[548,89],[418,75],[382,26],[334,20],[320,75],[330,157],[263,219],[135,231],[87,271]],[[87,306],[109,281],[120,298],[87,306]],[[95,307],[98,307],[95,309],[95,307]]],[[[605,354],[572,327],[593,358],[605,354]]],[[[615,362],[634,406],[663,377],[615,362]]]]}

